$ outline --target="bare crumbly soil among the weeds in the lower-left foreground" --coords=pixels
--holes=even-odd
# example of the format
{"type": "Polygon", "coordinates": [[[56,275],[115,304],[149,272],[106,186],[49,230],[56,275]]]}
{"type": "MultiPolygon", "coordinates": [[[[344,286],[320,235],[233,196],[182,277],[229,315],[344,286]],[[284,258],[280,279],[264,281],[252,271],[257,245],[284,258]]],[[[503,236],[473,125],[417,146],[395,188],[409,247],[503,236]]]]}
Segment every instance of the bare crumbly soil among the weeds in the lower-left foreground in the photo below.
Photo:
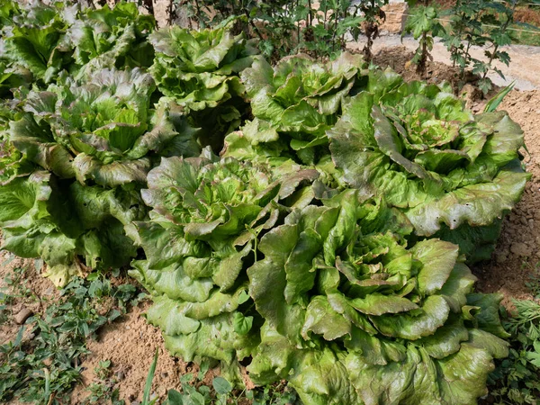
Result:
{"type": "MultiPolygon", "coordinates": [[[[40,261],[14,257],[11,253],[0,252],[0,289],[7,289],[9,293],[17,295],[17,289],[23,288],[29,293],[17,296],[14,302],[6,305],[8,313],[6,320],[0,320],[0,345],[14,340],[21,325],[15,322],[17,315],[23,311],[30,314],[43,313],[49,302],[58,299],[58,289],[36,269],[40,261]],[[19,274],[16,269],[24,269],[12,285],[6,284],[6,277],[14,280],[19,274]],[[40,297],[37,300],[35,297],[40,297]]],[[[94,368],[100,361],[111,360],[112,371],[119,380],[120,398],[131,404],[142,400],[142,392],[148,370],[158,349],[156,374],[153,380],[154,391],[152,395],[164,399],[168,389],[178,388],[180,375],[198,371],[195,365],[188,365],[181,360],[169,356],[166,352],[163,338],[159,329],[148,325],[143,317],[149,302],[139,303],[139,306],[130,308],[129,312],[111,325],[100,329],[94,339],[87,341],[87,348],[92,352],[85,358],[83,364],[82,380],[77,384],[71,403],[79,404],[88,396],[85,388],[94,381],[94,368]]],[[[29,337],[29,329],[24,332],[23,339],[29,337]]],[[[208,383],[208,382],[206,382],[208,383]]],[[[210,379],[211,383],[211,379],[210,379]]],[[[19,403],[12,401],[10,404],[19,403]]]]}

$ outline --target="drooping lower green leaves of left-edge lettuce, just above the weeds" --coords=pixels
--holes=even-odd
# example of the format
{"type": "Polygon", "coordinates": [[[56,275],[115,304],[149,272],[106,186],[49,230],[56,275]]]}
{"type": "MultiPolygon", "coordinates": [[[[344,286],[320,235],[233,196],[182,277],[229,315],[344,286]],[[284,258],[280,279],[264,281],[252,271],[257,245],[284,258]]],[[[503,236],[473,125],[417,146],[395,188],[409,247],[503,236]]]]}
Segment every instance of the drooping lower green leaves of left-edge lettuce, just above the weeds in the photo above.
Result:
{"type": "MultiPolygon", "coordinates": [[[[18,164],[29,168],[24,160],[18,164]]],[[[123,227],[144,218],[139,193],[66,182],[42,170],[23,175],[17,168],[0,187],[2,249],[42,258],[44,275],[57,286],[91,269],[126,266],[136,256],[123,227]]]]}

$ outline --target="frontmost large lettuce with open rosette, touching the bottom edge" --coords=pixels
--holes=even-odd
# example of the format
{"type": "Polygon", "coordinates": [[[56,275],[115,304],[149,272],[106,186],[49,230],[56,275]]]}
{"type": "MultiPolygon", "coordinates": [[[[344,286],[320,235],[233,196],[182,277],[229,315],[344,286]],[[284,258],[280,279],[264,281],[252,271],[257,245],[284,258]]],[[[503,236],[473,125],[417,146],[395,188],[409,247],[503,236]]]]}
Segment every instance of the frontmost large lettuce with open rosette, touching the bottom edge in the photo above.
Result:
{"type": "MultiPolygon", "coordinates": [[[[293,211],[247,270],[266,320],[247,367],[306,404],[473,403],[508,356],[500,297],[472,293],[458,247],[408,248],[398,211],[354,190],[293,211]]],[[[405,219],[406,221],[406,219],[405,219]]]]}

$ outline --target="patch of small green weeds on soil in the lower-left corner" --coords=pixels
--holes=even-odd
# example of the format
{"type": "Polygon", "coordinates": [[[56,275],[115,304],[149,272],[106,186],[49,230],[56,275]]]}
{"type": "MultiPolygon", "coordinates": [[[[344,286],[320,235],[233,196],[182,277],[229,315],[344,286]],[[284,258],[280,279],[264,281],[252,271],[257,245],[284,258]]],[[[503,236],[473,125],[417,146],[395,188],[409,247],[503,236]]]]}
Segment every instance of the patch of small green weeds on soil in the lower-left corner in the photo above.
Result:
{"type": "MultiPolygon", "coordinates": [[[[10,285],[23,290],[12,289],[12,293],[0,296],[4,309],[7,302],[26,293],[22,275],[23,270],[15,271],[10,285]]],[[[86,338],[120,317],[129,302],[135,304],[142,298],[133,285],[114,286],[99,274],[73,280],[59,295],[43,313],[27,320],[13,341],[0,346],[0,401],[65,403],[80,378],[80,365],[88,353],[86,338]]],[[[108,368],[105,365],[101,365],[102,376],[108,368]]],[[[93,389],[96,396],[102,390],[102,397],[117,400],[113,390],[93,389]]]]}

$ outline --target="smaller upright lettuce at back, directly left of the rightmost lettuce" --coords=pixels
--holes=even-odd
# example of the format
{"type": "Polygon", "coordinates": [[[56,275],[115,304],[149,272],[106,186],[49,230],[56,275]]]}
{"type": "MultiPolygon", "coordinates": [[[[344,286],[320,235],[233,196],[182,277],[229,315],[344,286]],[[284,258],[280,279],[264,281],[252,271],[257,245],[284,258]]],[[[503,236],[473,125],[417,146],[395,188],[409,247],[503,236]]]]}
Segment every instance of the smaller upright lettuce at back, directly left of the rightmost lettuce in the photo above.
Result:
{"type": "MultiPolygon", "coordinates": [[[[300,55],[271,67],[257,58],[241,75],[256,117],[253,125],[275,131],[274,138],[265,142],[282,139],[290,148],[285,150],[288,154],[305,164],[316,163],[320,155],[328,154],[326,131],[338,120],[343,100],[362,84],[364,67],[360,56],[347,52],[326,64],[300,55]]],[[[226,139],[232,153],[237,148],[234,138],[226,139]]]]}

